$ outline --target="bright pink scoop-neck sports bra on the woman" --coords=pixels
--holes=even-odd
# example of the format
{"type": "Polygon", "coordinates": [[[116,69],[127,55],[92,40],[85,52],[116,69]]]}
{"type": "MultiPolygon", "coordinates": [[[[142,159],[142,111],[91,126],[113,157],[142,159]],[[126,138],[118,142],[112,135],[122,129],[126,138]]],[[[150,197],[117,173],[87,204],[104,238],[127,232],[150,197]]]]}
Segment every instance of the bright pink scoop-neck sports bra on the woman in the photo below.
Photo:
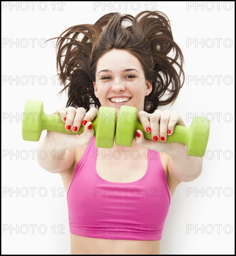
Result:
{"type": "Polygon", "coordinates": [[[70,233],[103,239],[160,240],[170,193],[159,152],[147,149],[145,175],[109,182],[96,172],[95,136],[77,163],[67,193],[70,233]]]}

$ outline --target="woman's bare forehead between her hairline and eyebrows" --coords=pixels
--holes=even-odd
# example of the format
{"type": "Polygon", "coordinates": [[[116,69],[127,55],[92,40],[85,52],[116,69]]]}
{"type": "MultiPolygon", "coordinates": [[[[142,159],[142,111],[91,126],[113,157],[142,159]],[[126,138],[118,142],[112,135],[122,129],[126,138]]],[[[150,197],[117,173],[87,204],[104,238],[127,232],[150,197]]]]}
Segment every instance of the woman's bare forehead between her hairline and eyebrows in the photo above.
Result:
{"type": "Polygon", "coordinates": [[[115,69],[125,70],[132,68],[142,69],[141,63],[137,57],[126,50],[112,49],[97,62],[97,69],[115,69]]]}

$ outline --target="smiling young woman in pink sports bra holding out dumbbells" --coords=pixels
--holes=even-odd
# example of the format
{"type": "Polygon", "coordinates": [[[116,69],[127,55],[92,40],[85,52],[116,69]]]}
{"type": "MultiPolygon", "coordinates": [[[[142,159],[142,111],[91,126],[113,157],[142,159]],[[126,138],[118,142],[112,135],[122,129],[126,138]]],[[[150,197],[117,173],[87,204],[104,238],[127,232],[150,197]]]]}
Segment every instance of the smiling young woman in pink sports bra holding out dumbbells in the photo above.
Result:
{"type": "Polygon", "coordinates": [[[159,254],[175,189],[202,171],[202,158],[186,157],[185,144],[163,143],[175,125],[185,126],[179,113],[158,109],[172,103],[184,83],[170,22],[157,11],[108,13],[94,25],[65,30],[57,50],[61,92],[68,89],[69,100],[55,113],[67,130],[83,125],[84,132],[48,131],[38,150],[60,157],[38,163],[64,182],[71,254],[159,254]],[[114,141],[113,148],[97,148],[91,121],[98,108],[119,113],[122,105],[137,108],[153,140],[137,130],[132,147],[114,141]]]}

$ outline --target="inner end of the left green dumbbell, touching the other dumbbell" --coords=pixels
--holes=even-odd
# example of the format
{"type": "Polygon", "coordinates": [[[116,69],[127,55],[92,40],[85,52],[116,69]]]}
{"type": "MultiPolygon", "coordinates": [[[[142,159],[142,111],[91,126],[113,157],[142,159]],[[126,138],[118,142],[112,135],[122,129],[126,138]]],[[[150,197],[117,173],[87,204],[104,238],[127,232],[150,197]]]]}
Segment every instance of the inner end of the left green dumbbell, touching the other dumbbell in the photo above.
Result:
{"type": "Polygon", "coordinates": [[[112,148],[115,138],[116,110],[110,107],[100,107],[93,126],[96,127],[96,147],[112,148]],[[106,139],[104,139],[106,138],[106,139]]]}

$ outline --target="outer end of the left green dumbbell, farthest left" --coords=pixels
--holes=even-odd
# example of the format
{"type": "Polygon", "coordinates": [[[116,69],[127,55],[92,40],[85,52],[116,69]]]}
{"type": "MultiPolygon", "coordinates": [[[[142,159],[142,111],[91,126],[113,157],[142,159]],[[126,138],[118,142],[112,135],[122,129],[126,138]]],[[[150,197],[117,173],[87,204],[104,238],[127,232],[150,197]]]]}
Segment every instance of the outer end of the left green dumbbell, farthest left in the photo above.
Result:
{"type": "Polygon", "coordinates": [[[44,113],[42,101],[26,101],[22,118],[22,138],[24,141],[39,141],[42,122],[38,121],[38,113],[44,113]]]}

